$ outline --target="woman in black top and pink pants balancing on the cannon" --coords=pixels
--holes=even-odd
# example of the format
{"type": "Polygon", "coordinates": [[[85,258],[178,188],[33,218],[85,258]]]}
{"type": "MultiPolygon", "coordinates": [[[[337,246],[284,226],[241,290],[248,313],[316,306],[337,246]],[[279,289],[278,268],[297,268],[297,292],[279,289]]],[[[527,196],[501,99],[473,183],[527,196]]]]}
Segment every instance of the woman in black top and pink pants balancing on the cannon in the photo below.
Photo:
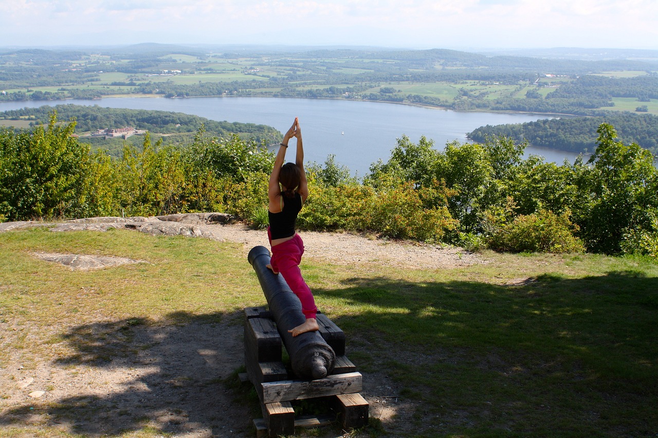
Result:
{"type": "Polygon", "coordinates": [[[304,243],[295,231],[295,222],[301,206],[309,197],[309,186],[304,171],[304,150],[301,141],[301,129],[299,120],[295,122],[284,135],[279,146],[279,151],[274,159],[274,168],[270,174],[270,182],[267,188],[269,199],[268,216],[270,226],[267,235],[272,247],[272,260],[267,267],[284,277],[290,289],[297,295],[301,302],[301,311],[306,321],[299,326],[288,330],[293,336],[307,331],[319,329],[316,321],[315,299],[311,288],[301,277],[299,263],[304,253],[304,243]],[[288,141],[297,139],[297,158],[295,163],[284,164],[288,141]]]}

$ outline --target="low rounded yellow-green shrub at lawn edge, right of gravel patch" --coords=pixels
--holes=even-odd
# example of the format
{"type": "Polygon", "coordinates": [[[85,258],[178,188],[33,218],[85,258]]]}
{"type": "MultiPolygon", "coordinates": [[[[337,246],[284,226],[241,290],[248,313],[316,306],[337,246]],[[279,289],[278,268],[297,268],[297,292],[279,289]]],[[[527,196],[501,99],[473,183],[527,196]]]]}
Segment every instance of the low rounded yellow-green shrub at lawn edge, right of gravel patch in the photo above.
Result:
{"type": "Polygon", "coordinates": [[[568,212],[557,215],[551,211],[517,216],[500,226],[488,237],[488,245],[497,251],[582,253],[584,246],[574,237],[577,231],[568,212]]]}

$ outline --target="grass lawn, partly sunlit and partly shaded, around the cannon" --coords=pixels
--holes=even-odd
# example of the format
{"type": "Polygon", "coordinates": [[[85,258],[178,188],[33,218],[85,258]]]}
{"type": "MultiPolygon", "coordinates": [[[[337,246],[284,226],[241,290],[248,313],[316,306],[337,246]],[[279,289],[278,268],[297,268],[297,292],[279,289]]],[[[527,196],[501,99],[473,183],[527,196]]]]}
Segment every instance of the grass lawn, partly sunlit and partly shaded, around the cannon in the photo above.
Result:
{"type": "MultiPolygon", "coordinates": [[[[18,358],[25,368],[38,368],[64,349],[67,333],[98,320],[180,328],[265,302],[238,243],[34,229],[0,233],[0,248],[3,379],[18,373],[7,364],[18,358]],[[73,272],[31,255],[39,251],[145,262],[73,272]]],[[[403,425],[395,418],[374,421],[353,436],[658,434],[658,264],[597,255],[483,258],[489,262],[449,270],[305,258],[302,272],[320,310],[345,331],[349,358],[364,379],[391,381],[382,395],[395,391],[411,410],[403,425]]],[[[91,350],[80,355],[102,351],[109,363],[126,354],[121,339],[85,345],[91,350]]],[[[16,430],[15,422],[3,420],[9,402],[2,395],[0,437],[16,430]]],[[[30,430],[40,437],[80,437],[63,431],[66,416],[93,412],[80,405],[66,414],[57,401],[20,406],[22,421],[36,422],[30,430]]],[[[163,436],[148,426],[149,418],[142,424],[105,436],[163,436]]]]}

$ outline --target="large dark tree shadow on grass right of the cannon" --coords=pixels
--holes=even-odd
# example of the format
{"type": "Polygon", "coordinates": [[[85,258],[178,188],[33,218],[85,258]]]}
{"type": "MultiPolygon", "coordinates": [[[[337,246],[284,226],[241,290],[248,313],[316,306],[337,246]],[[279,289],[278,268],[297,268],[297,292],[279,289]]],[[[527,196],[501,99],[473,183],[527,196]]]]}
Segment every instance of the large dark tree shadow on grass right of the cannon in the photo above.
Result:
{"type": "Polygon", "coordinates": [[[516,284],[351,278],[315,292],[357,309],[334,319],[347,354],[417,401],[412,435],[656,435],[658,279],[516,284]]]}

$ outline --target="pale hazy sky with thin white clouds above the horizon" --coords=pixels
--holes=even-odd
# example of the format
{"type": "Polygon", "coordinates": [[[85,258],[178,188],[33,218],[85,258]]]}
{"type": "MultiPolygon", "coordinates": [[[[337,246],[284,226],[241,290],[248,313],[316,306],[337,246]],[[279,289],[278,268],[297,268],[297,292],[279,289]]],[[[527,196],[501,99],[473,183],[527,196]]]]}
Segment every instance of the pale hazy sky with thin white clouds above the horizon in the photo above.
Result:
{"type": "Polygon", "coordinates": [[[0,47],[658,49],[658,0],[0,0],[0,47]]]}

